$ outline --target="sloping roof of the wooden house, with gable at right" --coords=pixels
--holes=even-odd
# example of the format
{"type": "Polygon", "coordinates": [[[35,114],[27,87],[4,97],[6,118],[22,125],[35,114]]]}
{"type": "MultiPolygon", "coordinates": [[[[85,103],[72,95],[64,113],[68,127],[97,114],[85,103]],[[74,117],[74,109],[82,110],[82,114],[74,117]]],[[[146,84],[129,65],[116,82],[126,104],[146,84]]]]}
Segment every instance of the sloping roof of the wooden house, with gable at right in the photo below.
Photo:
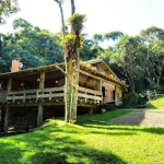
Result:
{"type": "MultiPolygon", "coordinates": [[[[17,72],[0,73],[0,79],[7,79],[7,78],[10,78],[10,77],[24,75],[25,73],[26,74],[34,74],[34,73],[39,73],[42,71],[52,71],[52,70],[58,70],[58,68],[65,69],[65,62],[49,65],[49,66],[43,66],[43,67],[38,67],[38,68],[31,68],[31,69],[20,70],[17,72]]],[[[81,70],[87,71],[93,75],[101,77],[103,79],[109,80],[114,83],[117,83],[117,84],[126,86],[126,87],[128,86],[122,81],[120,81],[117,78],[117,75],[112,71],[112,69],[101,59],[81,62],[80,68],[81,68],[81,70]],[[87,63],[91,63],[92,67],[89,67],[87,63]],[[95,67],[93,67],[93,65],[96,65],[96,63],[102,63],[102,66],[104,66],[105,69],[108,70],[107,71],[108,73],[99,72],[97,69],[95,69],[95,67]]]]}

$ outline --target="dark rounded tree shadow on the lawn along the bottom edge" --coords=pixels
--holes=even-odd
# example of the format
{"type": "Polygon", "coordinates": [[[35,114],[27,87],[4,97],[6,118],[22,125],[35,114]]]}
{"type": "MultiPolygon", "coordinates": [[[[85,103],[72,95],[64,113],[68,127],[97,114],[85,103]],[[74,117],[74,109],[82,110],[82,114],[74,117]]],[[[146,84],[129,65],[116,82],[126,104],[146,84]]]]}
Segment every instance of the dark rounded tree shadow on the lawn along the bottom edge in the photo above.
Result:
{"type": "Polygon", "coordinates": [[[103,153],[99,151],[95,151],[94,149],[82,148],[81,145],[77,148],[66,148],[63,150],[59,149],[58,151],[58,153],[39,152],[33,155],[31,159],[28,159],[28,161],[31,161],[31,163],[39,164],[126,164],[126,162],[124,162],[121,159],[112,153],[103,153]]]}

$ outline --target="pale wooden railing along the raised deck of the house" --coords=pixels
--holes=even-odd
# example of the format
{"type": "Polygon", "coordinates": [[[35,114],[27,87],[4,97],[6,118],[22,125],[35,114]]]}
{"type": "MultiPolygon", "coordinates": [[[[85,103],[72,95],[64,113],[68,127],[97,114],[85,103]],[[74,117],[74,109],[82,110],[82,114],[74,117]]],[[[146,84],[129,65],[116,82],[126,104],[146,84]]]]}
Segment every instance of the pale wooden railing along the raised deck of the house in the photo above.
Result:
{"type": "MultiPolygon", "coordinates": [[[[79,87],[79,102],[99,104],[102,103],[102,92],[79,87]]],[[[15,102],[65,102],[65,87],[49,87],[38,90],[0,92],[0,103],[15,103],[15,102]]]]}

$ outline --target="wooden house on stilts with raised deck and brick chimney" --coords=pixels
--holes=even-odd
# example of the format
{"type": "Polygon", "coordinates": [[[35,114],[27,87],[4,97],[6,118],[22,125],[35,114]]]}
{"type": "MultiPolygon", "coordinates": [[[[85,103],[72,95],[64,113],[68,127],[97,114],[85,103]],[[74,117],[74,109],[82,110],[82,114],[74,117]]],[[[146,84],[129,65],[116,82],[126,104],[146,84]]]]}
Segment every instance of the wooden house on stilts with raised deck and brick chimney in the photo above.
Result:
{"type": "MultiPolygon", "coordinates": [[[[23,121],[25,128],[63,116],[65,73],[58,68],[65,70],[65,63],[26,70],[19,70],[16,60],[13,65],[12,72],[0,74],[0,131],[7,132],[10,125],[19,129],[23,121]]],[[[119,105],[125,87],[103,60],[80,63],[78,113],[93,113],[108,103],[119,105]]]]}

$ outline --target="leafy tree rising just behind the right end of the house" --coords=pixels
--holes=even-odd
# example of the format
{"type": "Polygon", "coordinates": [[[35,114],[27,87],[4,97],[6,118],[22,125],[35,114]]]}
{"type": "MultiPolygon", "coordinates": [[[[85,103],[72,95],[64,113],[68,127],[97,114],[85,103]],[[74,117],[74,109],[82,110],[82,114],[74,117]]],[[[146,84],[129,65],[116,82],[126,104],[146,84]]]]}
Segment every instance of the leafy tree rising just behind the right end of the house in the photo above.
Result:
{"type": "Polygon", "coordinates": [[[137,60],[141,48],[137,37],[124,36],[110,56],[110,62],[117,63],[119,71],[128,80],[131,92],[136,92],[136,81],[143,75],[143,69],[137,60]]]}

